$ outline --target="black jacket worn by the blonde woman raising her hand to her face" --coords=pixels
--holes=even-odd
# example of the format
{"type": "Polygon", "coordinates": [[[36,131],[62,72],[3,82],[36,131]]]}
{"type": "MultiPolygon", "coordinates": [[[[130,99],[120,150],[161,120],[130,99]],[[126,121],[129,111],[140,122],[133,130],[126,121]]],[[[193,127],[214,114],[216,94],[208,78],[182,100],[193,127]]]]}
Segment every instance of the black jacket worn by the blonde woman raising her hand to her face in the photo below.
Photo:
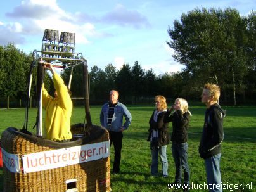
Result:
{"type": "Polygon", "coordinates": [[[181,110],[177,110],[172,115],[172,111],[168,110],[165,113],[164,122],[172,122],[172,143],[180,144],[188,141],[188,124],[190,120],[189,112],[182,114],[181,110]],[[170,115],[170,116],[169,116],[170,115]]]}

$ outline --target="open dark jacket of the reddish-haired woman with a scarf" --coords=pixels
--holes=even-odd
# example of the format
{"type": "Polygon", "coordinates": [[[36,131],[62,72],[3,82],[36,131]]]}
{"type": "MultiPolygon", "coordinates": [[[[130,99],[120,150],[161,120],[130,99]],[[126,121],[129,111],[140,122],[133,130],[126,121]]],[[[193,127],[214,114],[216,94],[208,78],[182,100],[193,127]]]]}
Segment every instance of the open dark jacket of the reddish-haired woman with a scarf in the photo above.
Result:
{"type": "Polygon", "coordinates": [[[170,135],[168,131],[168,124],[169,123],[164,123],[163,118],[165,116],[166,112],[162,112],[158,115],[157,122],[154,121],[154,112],[153,111],[151,117],[150,117],[150,129],[148,129],[148,132],[150,134],[148,135],[147,141],[150,141],[151,134],[153,129],[158,130],[158,138],[159,138],[159,146],[164,146],[170,143],[170,135]]]}

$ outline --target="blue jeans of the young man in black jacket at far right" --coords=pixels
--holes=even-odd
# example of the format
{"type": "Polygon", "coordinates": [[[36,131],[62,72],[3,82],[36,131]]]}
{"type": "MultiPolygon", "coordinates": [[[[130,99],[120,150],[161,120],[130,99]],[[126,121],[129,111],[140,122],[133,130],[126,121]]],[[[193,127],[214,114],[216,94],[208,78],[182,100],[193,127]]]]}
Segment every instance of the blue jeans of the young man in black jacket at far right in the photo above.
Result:
{"type": "Polygon", "coordinates": [[[221,171],[219,167],[220,161],[221,161],[221,153],[205,159],[207,184],[208,184],[208,189],[211,192],[222,192],[221,171]],[[214,184],[214,188],[213,188],[213,184],[214,184]]]}

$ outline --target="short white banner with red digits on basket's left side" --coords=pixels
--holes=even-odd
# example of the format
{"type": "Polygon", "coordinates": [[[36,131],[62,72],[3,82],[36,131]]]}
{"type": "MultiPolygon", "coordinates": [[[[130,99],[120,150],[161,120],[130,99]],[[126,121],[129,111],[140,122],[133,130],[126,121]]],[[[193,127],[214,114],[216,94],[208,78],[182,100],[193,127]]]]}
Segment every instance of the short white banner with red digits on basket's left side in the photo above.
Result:
{"type": "Polygon", "coordinates": [[[19,163],[19,158],[18,155],[15,154],[10,154],[4,151],[2,148],[2,156],[3,156],[3,163],[5,167],[10,170],[10,172],[20,172],[20,163],[19,163]]]}

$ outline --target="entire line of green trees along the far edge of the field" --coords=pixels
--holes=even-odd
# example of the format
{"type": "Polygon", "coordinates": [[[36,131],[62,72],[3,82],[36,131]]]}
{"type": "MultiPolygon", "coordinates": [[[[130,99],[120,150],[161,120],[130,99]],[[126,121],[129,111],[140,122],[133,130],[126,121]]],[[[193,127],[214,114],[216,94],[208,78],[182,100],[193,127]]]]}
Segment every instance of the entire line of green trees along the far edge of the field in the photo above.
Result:
{"type": "MultiPolygon", "coordinates": [[[[120,70],[111,63],[104,69],[94,65],[89,73],[90,102],[104,103],[112,89],[119,91],[124,103],[152,103],[157,94],[167,97],[168,102],[177,97],[200,101],[203,84],[213,82],[221,86],[222,104],[255,104],[256,11],[241,16],[232,8],[195,8],[174,20],[167,33],[170,39],[166,43],[174,49],[174,59],[185,66],[181,72],[157,75],[152,68],[144,70],[139,61],[132,66],[124,63],[120,70]]],[[[0,46],[0,101],[26,98],[31,62],[32,55],[23,53],[14,43],[0,46]]],[[[82,72],[82,65],[74,68],[73,97],[82,96],[82,72]]],[[[67,83],[69,75],[70,68],[61,72],[67,83]]],[[[47,73],[45,84],[53,92],[47,73]]]]}

